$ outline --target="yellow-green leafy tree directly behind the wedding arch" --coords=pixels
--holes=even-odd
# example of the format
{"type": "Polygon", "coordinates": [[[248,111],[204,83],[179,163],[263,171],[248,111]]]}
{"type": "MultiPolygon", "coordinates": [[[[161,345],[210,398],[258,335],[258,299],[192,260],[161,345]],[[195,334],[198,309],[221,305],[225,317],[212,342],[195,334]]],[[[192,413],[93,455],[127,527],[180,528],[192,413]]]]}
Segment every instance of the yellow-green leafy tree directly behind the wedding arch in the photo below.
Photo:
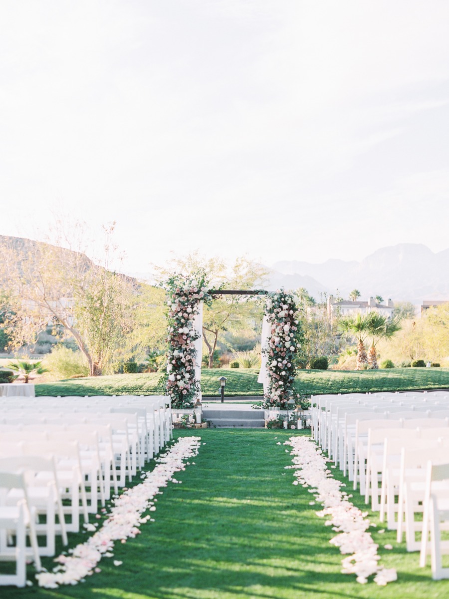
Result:
{"type": "MultiPolygon", "coordinates": [[[[181,272],[195,276],[204,273],[214,289],[254,289],[263,284],[268,271],[265,267],[245,256],[237,258],[228,266],[222,258],[205,259],[192,253],[187,258],[176,258],[168,268],[159,268],[160,278],[181,272]]],[[[241,295],[222,295],[214,298],[211,306],[203,311],[203,340],[209,356],[208,368],[213,367],[214,352],[226,331],[237,332],[252,326],[260,326],[262,307],[257,299],[241,295]]]]}

